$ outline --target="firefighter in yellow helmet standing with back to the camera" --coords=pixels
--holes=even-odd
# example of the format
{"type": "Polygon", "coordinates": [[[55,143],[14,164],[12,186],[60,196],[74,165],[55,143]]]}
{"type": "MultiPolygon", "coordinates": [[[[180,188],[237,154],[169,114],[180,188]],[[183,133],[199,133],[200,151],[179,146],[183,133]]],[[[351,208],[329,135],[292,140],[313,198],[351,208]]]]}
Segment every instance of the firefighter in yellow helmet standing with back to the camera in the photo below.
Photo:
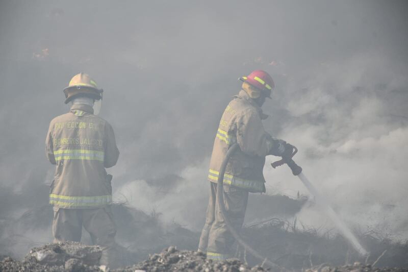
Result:
{"type": "Polygon", "coordinates": [[[80,241],[84,227],[103,248],[100,263],[115,266],[112,176],[105,168],[116,164],[119,151],[111,125],[93,114],[102,92],[86,73],[71,79],[64,89],[70,111],[50,122],[45,153],[56,165],[49,194],[54,242],[80,241]]]}

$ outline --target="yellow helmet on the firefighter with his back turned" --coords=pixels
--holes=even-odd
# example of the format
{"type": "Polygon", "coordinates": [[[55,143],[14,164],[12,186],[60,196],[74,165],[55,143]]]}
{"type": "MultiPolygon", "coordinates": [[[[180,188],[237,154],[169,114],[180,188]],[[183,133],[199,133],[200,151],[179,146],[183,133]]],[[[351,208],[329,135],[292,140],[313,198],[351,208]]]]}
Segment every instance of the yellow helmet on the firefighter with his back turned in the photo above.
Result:
{"type": "Polygon", "coordinates": [[[69,81],[68,87],[64,90],[65,104],[70,102],[73,98],[78,96],[91,97],[94,100],[100,100],[102,98],[103,89],[98,89],[96,82],[89,77],[86,73],[79,73],[73,76],[69,81]]]}

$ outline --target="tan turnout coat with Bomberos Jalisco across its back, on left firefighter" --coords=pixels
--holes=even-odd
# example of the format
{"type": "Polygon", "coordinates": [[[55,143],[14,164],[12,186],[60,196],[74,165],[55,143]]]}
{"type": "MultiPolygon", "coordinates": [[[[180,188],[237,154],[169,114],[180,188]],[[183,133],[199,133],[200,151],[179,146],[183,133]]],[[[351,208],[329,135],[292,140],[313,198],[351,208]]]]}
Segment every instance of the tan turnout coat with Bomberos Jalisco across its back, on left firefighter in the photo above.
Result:
{"type": "Polygon", "coordinates": [[[111,125],[91,106],[74,104],[50,122],[45,153],[56,164],[50,204],[89,209],[112,203],[112,176],[105,168],[116,164],[119,151],[111,125]]]}

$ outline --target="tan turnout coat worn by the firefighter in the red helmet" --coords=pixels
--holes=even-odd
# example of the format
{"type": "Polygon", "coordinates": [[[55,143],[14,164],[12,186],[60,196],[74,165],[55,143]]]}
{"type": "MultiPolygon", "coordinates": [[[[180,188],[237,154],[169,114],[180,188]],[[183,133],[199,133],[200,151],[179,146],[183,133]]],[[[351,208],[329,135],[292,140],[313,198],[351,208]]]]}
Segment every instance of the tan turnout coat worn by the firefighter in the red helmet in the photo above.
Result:
{"type": "Polygon", "coordinates": [[[272,149],[272,138],[265,131],[261,108],[241,90],[222,114],[214,140],[208,180],[217,182],[221,163],[233,143],[240,149],[228,162],[224,184],[247,189],[249,192],[265,192],[263,167],[265,156],[272,149]]]}

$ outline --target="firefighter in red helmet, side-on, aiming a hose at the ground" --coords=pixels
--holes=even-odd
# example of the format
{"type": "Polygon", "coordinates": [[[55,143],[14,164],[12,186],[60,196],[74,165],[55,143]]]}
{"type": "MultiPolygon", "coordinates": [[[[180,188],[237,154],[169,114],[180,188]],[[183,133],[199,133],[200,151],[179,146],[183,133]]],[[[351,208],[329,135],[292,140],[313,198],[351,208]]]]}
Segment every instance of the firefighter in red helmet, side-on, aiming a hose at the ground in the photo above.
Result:
{"type": "Polygon", "coordinates": [[[267,72],[255,70],[243,81],[242,90],[228,104],[214,140],[213,153],[208,172],[210,197],[206,223],[202,229],[198,251],[207,258],[223,260],[231,257],[235,241],[221,215],[217,199],[217,179],[228,147],[238,143],[239,149],[229,160],[224,175],[225,216],[239,232],[248,202],[248,192],[265,192],[263,168],[265,156],[282,156],[286,142],[272,138],[264,129],[262,113],[266,97],[274,87],[267,72]]]}

